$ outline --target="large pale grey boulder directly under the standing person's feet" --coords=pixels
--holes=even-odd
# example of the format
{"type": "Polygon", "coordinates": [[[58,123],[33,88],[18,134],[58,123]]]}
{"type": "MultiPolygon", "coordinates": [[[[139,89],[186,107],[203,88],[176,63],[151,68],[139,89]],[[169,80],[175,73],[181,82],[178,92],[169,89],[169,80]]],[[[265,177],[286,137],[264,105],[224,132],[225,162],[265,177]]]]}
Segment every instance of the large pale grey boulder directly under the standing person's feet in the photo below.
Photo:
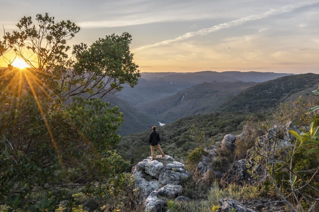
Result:
{"type": "Polygon", "coordinates": [[[153,161],[148,157],[132,168],[135,186],[140,188],[142,197],[146,198],[154,190],[167,184],[180,184],[182,178],[190,177],[191,174],[184,167],[184,164],[168,155],[158,155],[153,161]]]}

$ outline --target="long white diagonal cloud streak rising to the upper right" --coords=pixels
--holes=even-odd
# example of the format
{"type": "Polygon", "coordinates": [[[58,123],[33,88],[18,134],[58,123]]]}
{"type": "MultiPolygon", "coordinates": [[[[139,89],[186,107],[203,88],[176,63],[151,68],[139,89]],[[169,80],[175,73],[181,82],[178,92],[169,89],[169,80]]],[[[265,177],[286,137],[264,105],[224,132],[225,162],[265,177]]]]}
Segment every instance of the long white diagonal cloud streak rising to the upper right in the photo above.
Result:
{"type": "Polygon", "coordinates": [[[212,26],[210,28],[204,28],[198,31],[193,31],[193,32],[187,32],[182,36],[179,36],[177,38],[174,39],[168,39],[168,40],[164,40],[155,44],[151,44],[151,45],[145,45],[145,46],[141,46],[138,47],[137,49],[135,49],[136,51],[140,51],[140,50],[144,50],[147,48],[152,48],[152,47],[158,47],[158,46],[164,46],[164,45],[168,45],[174,42],[178,42],[178,41],[182,41],[188,38],[192,38],[198,35],[207,35],[211,32],[215,32],[215,31],[219,31],[222,29],[226,29],[226,28],[230,28],[230,27],[234,27],[234,26],[239,26],[242,25],[246,22],[249,21],[255,21],[255,20],[259,20],[259,19],[263,19],[263,18],[267,18],[273,15],[278,15],[278,14],[282,14],[282,13],[287,13],[287,12],[291,12],[293,10],[296,10],[300,7],[303,6],[307,6],[307,5],[311,5],[311,4],[315,4],[318,3],[318,1],[314,1],[314,0],[309,0],[309,1],[303,1],[303,2],[297,2],[297,3],[293,3],[293,4],[288,4],[282,7],[279,7],[277,9],[272,9],[272,10],[268,10],[266,12],[263,13],[259,13],[256,15],[251,15],[251,16],[246,16],[243,18],[239,18],[233,21],[229,21],[226,23],[222,23],[222,24],[218,24],[215,26],[212,26]]]}

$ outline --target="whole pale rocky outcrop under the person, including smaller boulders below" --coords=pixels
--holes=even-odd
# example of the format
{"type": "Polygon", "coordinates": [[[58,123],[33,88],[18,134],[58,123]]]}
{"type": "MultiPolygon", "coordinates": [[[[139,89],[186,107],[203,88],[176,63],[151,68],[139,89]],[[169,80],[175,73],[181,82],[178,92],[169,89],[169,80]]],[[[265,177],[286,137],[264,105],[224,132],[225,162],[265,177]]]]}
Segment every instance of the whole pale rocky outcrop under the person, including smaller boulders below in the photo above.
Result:
{"type": "MultiPolygon", "coordinates": [[[[151,157],[144,159],[132,168],[135,177],[135,187],[146,198],[145,211],[162,211],[167,199],[182,195],[184,188],[180,185],[183,178],[191,174],[184,169],[184,164],[175,161],[171,156],[158,155],[155,160],[151,157]]],[[[179,199],[188,200],[186,197],[179,199]]]]}

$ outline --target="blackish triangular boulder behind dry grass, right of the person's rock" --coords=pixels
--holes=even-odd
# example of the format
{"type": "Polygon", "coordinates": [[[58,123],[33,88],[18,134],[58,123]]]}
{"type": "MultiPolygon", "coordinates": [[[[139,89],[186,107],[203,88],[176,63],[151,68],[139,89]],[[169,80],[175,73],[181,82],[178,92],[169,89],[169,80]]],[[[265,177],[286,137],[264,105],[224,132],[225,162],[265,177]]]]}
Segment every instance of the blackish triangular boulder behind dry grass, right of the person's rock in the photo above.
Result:
{"type": "Polygon", "coordinates": [[[251,161],[241,159],[233,163],[231,168],[220,179],[220,185],[226,187],[229,183],[236,183],[244,185],[245,183],[254,183],[256,180],[247,172],[247,163],[249,166],[253,166],[251,161]]]}

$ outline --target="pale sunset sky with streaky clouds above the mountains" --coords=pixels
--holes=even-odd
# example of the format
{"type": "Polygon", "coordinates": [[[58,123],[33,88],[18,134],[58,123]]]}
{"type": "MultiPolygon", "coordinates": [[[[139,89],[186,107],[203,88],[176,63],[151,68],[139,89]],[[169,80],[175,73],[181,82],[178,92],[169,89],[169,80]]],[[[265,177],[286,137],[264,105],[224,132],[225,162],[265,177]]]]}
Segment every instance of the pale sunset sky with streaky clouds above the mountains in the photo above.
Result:
{"type": "Polygon", "coordinates": [[[21,17],[38,13],[75,22],[81,30],[69,45],[129,32],[141,72],[319,73],[319,0],[0,0],[0,5],[0,24],[8,32],[17,30],[21,17]]]}

